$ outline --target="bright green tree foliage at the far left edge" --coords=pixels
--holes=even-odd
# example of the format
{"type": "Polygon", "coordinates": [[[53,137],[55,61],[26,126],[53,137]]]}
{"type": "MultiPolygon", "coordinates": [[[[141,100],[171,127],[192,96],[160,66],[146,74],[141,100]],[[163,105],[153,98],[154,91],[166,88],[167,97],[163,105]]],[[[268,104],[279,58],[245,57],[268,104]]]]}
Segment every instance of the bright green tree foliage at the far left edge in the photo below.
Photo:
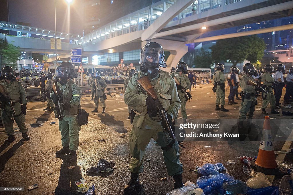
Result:
{"type": "Polygon", "coordinates": [[[20,47],[16,47],[13,43],[8,43],[6,49],[3,50],[3,56],[11,67],[17,67],[17,60],[21,57],[20,47]]]}

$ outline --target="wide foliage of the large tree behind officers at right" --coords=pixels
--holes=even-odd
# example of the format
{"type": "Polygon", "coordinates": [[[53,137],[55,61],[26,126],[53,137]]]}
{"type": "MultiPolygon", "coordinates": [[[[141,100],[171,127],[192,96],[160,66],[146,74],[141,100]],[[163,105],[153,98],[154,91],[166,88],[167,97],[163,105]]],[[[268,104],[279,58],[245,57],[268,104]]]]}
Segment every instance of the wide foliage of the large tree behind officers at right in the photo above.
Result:
{"type": "Polygon", "coordinates": [[[211,47],[215,63],[230,60],[234,66],[243,60],[257,62],[264,55],[265,42],[257,36],[243,36],[218,40],[211,47]]]}

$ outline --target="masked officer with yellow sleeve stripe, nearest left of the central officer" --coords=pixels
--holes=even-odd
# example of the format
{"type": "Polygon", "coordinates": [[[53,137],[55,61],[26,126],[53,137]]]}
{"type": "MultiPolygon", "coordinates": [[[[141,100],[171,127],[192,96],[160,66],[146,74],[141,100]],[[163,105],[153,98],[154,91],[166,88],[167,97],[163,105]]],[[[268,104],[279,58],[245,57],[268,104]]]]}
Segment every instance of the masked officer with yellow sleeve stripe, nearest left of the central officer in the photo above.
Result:
{"type": "MultiPolygon", "coordinates": [[[[74,65],[70,62],[62,62],[57,67],[55,82],[59,88],[60,97],[62,97],[64,118],[59,120],[59,130],[61,132],[61,141],[63,148],[56,152],[56,155],[68,154],[65,162],[77,160],[76,150],[79,146],[80,126],[77,122],[78,110],[80,106],[80,89],[72,80],[77,78],[74,65]]],[[[51,99],[55,106],[57,105],[57,95],[52,91],[51,99]]]]}

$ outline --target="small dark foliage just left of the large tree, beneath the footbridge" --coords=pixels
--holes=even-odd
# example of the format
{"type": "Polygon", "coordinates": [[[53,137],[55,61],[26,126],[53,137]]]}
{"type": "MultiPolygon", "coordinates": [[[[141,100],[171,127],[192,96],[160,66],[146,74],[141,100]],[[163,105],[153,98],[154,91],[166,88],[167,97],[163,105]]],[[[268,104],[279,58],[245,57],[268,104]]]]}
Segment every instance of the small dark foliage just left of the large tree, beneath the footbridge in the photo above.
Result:
{"type": "Polygon", "coordinates": [[[211,68],[214,64],[211,53],[201,48],[199,54],[194,57],[194,64],[196,68],[211,68]]]}

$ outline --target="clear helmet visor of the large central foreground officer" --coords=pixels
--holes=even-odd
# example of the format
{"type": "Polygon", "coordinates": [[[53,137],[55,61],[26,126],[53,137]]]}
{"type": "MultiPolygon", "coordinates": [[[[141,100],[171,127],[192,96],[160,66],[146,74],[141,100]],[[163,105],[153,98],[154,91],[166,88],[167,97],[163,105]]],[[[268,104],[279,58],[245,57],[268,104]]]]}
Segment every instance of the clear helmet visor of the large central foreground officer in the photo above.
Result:
{"type": "Polygon", "coordinates": [[[140,59],[139,64],[145,63],[145,64],[159,64],[160,63],[160,51],[156,48],[142,48],[140,50],[140,59]]]}

